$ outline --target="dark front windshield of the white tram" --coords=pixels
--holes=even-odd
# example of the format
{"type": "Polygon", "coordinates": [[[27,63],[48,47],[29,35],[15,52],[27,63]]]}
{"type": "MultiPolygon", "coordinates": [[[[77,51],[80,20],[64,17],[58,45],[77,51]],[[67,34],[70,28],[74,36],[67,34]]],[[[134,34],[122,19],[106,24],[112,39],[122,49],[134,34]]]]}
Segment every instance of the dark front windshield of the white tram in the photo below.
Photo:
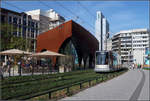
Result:
{"type": "Polygon", "coordinates": [[[108,52],[96,52],[96,65],[108,64],[108,52]]]}

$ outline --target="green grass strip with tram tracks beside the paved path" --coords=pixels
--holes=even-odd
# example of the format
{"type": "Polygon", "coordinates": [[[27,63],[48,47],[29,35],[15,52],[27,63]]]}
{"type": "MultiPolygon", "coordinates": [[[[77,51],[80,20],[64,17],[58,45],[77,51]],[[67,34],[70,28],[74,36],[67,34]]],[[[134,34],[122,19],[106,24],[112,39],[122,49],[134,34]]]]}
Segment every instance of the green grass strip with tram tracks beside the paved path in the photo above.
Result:
{"type": "MultiPolygon", "coordinates": [[[[67,73],[58,74],[45,74],[45,75],[34,75],[34,76],[16,76],[4,78],[1,83],[1,96],[4,100],[10,99],[26,99],[33,95],[41,94],[45,91],[58,89],[60,87],[69,86],[75,83],[91,80],[91,85],[96,84],[96,78],[98,82],[106,81],[118,76],[127,70],[121,70],[112,73],[95,73],[91,70],[78,70],[67,73]],[[108,76],[109,75],[109,76],[108,76]],[[115,76],[114,76],[115,75],[115,76]],[[102,79],[103,77],[103,79],[102,79]]],[[[83,83],[83,88],[89,87],[89,83],[83,83]]],[[[79,85],[70,87],[70,94],[79,90],[79,85]]],[[[67,94],[67,95],[70,95],[67,94]]],[[[57,90],[52,93],[52,98],[59,96],[66,96],[66,89],[57,90]]],[[[48,94],[34,97],[30,100],[37,99],[48,99],[48,94]]]]}

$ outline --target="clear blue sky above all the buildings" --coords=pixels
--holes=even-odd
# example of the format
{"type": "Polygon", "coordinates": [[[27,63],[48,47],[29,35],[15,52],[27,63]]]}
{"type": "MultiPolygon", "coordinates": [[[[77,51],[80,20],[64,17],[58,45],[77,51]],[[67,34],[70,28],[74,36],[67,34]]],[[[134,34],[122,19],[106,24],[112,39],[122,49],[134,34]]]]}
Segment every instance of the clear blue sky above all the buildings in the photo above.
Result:
{"type": "Polygon", "coordinates": [[[93,35],[97,11],[107,18],[111,36],[120,30],[149,28],[148,1],[3,1],[1,6],[17,12],[53,8],[66,20],[75,20],[93,35]]]}

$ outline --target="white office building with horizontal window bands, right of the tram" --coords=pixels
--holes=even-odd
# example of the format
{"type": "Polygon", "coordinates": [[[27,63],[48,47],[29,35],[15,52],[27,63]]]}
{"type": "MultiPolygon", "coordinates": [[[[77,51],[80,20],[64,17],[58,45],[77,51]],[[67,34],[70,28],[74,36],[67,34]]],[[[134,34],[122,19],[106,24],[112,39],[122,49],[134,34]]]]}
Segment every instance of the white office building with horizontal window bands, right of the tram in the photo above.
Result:
{"type": "Polygon", "coordinates": [[[122,63],[143,65],[146,47],[149,47],[148,29],[120,31],[112,37],[112,50],[121,55],[122,63]]]}

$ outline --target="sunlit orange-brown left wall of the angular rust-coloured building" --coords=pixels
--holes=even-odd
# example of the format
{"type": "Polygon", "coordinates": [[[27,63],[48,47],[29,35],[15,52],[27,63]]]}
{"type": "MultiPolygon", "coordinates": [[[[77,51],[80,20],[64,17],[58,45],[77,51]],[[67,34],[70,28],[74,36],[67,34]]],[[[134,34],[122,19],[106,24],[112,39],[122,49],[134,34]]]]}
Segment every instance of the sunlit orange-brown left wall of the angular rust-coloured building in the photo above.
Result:
{"type": "Polygon", "coordinates": [[[72,36],[72,20],[41,33],[37,37],[37,52],[43,49],[58,52],[62,43],[72,36]]]}

